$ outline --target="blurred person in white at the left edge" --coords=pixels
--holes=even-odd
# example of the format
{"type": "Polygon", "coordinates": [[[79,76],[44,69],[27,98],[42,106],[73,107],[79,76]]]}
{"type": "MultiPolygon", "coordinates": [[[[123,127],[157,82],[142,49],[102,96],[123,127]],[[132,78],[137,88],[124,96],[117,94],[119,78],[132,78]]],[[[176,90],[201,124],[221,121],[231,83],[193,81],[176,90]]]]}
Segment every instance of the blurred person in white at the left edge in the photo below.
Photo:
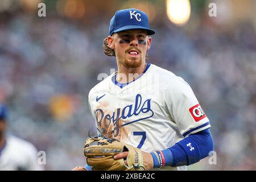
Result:
{"type": "Polygon", "coordinates": [[[36,147],[23,139],[6,136],[7,109],[0,104],[0,170],[35,171],[44,168],[38,164],[36,147]]]}

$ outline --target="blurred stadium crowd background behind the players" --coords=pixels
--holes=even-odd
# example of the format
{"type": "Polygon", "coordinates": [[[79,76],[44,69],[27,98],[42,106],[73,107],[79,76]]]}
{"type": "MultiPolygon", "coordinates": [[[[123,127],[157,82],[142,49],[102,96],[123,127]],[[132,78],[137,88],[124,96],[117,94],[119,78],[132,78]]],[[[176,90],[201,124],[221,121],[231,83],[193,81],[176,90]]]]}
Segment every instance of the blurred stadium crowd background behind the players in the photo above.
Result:
{"type": "Polygon", "coordinates": [[[115,11],[134,7],[156,30],[149,63],[183,77],[210,119],[217,164],[206,158],[188,169],[255,170],[256,1],[181,2],[183,22],[163,0],[0,0],[0,102],[9,108],[9,134],[46,151],[47,170],[85,164],[84,139],[96,135],[89,90],[100,73],[117,69],[103,39],[115,11]],[[40,2],[46,17],[38,16],[40,2]],[[210,3],[217,16],[209,16],[210,3]]]}

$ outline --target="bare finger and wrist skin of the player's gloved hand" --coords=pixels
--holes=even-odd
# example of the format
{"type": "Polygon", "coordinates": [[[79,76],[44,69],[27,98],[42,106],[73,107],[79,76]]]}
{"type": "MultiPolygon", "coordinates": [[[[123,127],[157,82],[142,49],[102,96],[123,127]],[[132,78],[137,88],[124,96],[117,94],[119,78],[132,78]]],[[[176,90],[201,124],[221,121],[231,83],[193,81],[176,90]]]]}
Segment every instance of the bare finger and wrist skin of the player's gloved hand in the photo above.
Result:
{"type": "MultiPolygon", "coordinates": [[[[146,170],[151,170],[153,168],[153,159],[150,153],[148,152],[142,152],[142,156],[143,156],[143,164],[146,168],[146,170]]],[[[116,154],[114,156],[114,159],[122,159],[122,158],[126,158],[128,155],[128,152],[121,152],[119,154],[116,154]]],[[[127,161],[125,160],[125,164],[127,165],[127,161]]]]}

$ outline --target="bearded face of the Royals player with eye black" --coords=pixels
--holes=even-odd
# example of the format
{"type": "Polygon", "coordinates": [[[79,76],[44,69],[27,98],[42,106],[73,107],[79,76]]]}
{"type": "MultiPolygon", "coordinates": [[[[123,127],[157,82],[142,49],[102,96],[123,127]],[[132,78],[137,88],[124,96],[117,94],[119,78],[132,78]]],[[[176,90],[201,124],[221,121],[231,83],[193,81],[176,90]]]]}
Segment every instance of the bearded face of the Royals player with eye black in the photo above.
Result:
{"type": "Polygon", "coordinates": [[[125,67],[137,68],[145,61],[150,44],[151,37],[145,30],[126,30],[114,34],[109,45],[115,50],[117,61],[125,67]]]}

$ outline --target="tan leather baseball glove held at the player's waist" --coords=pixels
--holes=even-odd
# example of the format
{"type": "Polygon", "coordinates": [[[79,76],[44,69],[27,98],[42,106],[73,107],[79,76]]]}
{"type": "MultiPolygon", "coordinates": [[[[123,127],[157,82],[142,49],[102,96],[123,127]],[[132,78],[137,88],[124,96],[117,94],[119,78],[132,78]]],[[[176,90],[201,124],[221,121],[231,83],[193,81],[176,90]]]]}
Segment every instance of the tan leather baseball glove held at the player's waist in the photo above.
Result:
{"type": "Polygon", "coordinates": [[[93,171],[144,171],[143,156],[139,148],[130,146],[114,138],[105,136],[90,137],[84,143],[86,162],[93,171]],[[127,165],[124,159],[115,160],[113,156],[128,152],[127,165]]]}

